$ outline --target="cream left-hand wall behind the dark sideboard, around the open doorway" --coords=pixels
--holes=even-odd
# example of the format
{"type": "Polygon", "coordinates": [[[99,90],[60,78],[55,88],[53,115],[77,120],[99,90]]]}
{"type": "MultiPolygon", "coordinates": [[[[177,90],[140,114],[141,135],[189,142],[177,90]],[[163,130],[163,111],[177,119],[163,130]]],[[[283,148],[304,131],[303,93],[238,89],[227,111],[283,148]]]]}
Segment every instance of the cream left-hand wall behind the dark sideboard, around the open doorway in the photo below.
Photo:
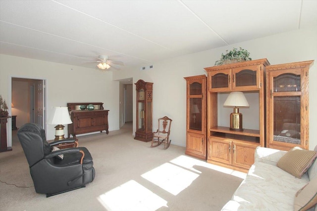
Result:
{"type": "MultiPolygon", "coordinates": [[[[9,103],[11,78],[46,80],[46,117],[52,114],[52,107],[67,106],[68,102],[103,102],[104,108],[110,110],[109,130],[119,129],[119,82],[112,81],[111,71],[101,72],[92,68],[0,54],[0,93],[9,103]],[[17,61],[23,65],[17,66],[17,61]]],[[[11,128],[10,124],[9,119],[8,131],[11,128]]],[[[46,126],[47,138],[53,139],[54,126],[46,126]]],[[[67,134],[67,127],[64,130],[67,134]]],[[[8,146],[11,146],[9,139],[8,146]]]]}

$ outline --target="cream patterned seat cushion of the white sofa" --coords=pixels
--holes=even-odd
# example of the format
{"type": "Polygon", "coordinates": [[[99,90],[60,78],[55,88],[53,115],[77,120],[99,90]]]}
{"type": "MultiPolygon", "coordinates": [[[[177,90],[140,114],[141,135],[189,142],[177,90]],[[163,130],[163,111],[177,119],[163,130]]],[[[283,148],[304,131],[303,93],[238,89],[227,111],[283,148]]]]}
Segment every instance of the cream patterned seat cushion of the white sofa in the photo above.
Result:
{"type": "Polygon", "coordinates": [[[307,173],[299,179],[276,166],[256,162],[222,210],[292,211],[296,192],[308,182],[307,173]]]}

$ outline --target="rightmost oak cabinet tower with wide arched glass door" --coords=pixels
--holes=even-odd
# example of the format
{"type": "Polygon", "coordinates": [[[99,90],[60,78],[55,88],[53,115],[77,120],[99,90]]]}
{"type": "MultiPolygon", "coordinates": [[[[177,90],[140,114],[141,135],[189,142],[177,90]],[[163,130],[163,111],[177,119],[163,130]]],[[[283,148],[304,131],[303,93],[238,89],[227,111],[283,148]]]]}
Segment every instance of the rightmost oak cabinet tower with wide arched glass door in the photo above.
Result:
{"type": "Polygon", "coordinates": [[[309,149],[309,69],[314,60],[266,67],[266,147],[309,149]]]}

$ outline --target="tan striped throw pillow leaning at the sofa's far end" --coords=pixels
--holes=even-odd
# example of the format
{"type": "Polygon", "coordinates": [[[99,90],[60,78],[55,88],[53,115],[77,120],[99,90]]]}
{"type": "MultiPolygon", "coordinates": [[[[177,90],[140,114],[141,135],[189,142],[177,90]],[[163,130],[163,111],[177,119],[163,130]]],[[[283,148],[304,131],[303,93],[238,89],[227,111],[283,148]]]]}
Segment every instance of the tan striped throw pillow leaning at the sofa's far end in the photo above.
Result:
{"type": "Polygon", "coordinates": [[[301,178],[308,168],[312,166],[316,157],[316,151],[294,147],[277,162],[277,166],[293,176],[301,178]]]}

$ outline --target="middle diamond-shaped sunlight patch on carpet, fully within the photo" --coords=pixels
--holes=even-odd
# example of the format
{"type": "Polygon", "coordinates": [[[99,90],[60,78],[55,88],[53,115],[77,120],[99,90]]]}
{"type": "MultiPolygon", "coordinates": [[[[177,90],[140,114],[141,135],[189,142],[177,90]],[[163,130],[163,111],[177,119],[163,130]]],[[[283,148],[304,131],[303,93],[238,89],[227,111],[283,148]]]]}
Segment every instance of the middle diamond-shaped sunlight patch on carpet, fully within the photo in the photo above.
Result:
{"type": "Polygon", "coordinates": [[[187,188],[199,174],[165,163],[141,176],[176,196],[187,188]]]}

